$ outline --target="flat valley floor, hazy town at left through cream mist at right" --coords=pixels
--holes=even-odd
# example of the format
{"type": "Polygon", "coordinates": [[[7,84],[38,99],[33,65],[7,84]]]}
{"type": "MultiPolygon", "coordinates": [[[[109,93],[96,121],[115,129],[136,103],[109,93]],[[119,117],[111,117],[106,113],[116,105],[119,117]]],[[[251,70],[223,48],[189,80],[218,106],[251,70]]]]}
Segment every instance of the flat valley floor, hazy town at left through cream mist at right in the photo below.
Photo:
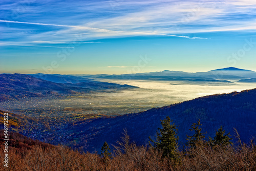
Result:
{"type": "Polygon", "coordinates": [[[256,88],[255,83],[186,84],[178,81],[110,80],[104,82],[129,84],[140,88],[74,95],[59,98],[33,98],[0,103],[3,110],[24,113],[29,116],[116,116],[145,111],[201,96],[230,93],[256,88]]]}

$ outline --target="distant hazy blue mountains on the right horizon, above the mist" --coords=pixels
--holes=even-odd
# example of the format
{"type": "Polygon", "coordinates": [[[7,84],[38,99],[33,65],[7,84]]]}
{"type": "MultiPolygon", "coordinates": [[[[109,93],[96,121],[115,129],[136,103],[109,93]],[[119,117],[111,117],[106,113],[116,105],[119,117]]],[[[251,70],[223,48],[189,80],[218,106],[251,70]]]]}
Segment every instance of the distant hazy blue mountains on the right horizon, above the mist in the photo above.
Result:
{"type": "Polygon", "coordinates": [[[161,81],[183,81],[185,83],[232,83],[232,81],[253,82],[252,78],[256,78],[256,72],[250,70],[243,70],[234,67],[211,70],[208,72],[189,73],[183,71],[169,71],[164,70],[161,72],[150,73],[135,73],[135,74],[122,74],[122,75],[80,75],[86,78],[106,78],[106,79],[129,79],[129,80],[161,80],[161,81]]]}

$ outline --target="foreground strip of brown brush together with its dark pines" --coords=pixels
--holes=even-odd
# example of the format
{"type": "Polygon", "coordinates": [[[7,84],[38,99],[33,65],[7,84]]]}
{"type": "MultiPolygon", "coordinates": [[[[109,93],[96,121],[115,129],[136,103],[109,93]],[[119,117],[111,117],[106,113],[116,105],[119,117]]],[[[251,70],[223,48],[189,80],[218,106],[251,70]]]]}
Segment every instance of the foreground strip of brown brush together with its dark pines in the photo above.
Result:
{"type": "MultiPolygon", "coordinates": [[[[127,131],[111,149],[107,142],[98,154],[72,149],[63,145],[50,145],[10,134],[9,166],[1,170],[256,170],[256,146],[253,140],[238,144],[231,142],[230,133],[222,126],[213,138],[205,139],[200,120],[190,126],[191,136],[181,150],[178,126],[167,116],[162,127],[150,138],[149,145],[136,145],[127,131]]],[[[3,137],[3,132],[0,132],[3,137]]],[[[3,138],[0,138],[3,141],[3,138]]],[[[0,156],[4,155],[3,143],[0,156]]],[[[1,163],[3,158],[1,157],[1,163]]]]}

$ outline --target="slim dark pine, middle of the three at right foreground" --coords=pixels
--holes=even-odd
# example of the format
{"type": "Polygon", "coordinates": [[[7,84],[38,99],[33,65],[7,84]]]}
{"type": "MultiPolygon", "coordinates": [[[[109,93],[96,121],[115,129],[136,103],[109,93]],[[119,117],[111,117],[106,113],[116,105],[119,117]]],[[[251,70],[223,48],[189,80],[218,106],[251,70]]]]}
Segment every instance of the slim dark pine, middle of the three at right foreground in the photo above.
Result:
{"type": "Polygon", "coordinates": [[[189,145],[190,148],[196,148],[196,144],[201,143],[205,138],[205,133],[201,133],[202,129],[199,128],[199,126],[202,126],[202,124],[200,124],[200,119],[198,119],[197,123],[193,123],[191,125],[191,129],[189,129],[189,131],[195,131],[193,136],[187,135],[186,138],[186,140],[188,141],[187,145],[189,145]]]}

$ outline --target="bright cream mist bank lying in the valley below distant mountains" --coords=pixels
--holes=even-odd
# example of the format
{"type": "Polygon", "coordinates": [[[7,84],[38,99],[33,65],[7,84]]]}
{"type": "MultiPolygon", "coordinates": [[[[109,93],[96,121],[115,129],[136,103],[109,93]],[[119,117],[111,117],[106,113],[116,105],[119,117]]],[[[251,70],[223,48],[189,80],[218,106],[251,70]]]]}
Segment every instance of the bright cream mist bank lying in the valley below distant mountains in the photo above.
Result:
{"type": "Polygon", "coordinates": [[[129,100],[131,103],[157,105],[169,105],[194,99],[201,96],[230,93],[233,91],[242,91],[256,88],[255,83],[223,83],[212,86],[200,84],[185,84],[178,81],[144,81],[144,80],[106,80],[119,84],[129,84],[141,89],[125,90],[120,93],[105,94],[109,98],[118,98],[129,100]]]}

